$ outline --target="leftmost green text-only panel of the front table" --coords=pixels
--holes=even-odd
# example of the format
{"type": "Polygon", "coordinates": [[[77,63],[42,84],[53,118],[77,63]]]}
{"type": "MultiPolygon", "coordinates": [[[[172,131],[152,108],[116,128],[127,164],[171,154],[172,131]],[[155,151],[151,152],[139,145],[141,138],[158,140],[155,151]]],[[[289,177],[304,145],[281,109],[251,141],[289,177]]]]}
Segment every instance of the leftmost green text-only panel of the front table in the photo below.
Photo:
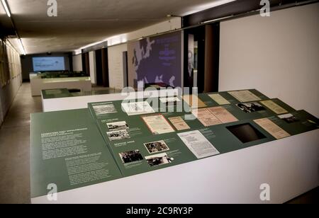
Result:
{"type": "Polygon", "coordinates": [[[31,115],[31,197],[72,190],[121,177],[87,109],[31,115]]]}

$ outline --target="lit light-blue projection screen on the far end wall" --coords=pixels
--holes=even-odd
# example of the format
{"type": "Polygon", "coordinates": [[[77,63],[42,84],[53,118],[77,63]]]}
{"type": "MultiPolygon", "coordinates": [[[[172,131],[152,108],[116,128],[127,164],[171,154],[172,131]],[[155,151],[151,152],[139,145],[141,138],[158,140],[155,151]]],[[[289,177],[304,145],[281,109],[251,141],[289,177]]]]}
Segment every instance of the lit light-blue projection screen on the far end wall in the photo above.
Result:
{"type": "Polygon", "coordinates": [[[64,57],[33,57],[33,71],[65,70],[64,57]]]}

